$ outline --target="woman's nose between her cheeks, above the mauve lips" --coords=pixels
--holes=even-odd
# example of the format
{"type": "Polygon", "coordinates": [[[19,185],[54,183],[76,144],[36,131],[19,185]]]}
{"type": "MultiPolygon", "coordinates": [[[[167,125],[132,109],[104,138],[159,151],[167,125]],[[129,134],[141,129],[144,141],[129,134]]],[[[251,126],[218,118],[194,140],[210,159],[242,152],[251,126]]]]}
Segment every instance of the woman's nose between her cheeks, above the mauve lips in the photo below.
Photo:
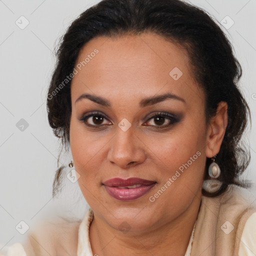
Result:
{"type": "Polygon", "coordinates": [[[145,158],[143,143],[132,132],[132,128],[126,131],[118,128],[111,139],[111,147],[107,154],[108,161],[121,168],[128,168],[143,162],[145,158]]]}

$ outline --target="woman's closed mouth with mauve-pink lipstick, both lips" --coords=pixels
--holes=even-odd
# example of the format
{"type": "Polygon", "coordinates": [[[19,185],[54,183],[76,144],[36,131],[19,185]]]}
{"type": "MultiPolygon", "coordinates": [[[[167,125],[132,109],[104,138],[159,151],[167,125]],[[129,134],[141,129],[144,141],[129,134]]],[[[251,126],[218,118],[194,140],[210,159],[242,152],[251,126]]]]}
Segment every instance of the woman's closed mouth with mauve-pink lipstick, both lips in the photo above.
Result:
{"type": "Polygon", "coordinates": [[[156,181],[131,177],[111,178],[102,183],[109,195],[118,200],[134,200],[146,194],[156,181]]]}

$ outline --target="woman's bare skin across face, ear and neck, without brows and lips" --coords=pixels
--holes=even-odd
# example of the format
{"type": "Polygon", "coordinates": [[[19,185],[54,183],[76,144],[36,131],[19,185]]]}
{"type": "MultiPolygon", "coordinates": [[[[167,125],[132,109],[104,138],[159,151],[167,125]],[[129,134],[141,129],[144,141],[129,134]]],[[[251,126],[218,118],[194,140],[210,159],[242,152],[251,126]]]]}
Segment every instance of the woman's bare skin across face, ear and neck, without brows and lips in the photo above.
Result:
{"type": "Polygon", "coordinates": [[[184,255],[199,209],[206,157],[218,153],[224,136],[227,104],[220,102],[216,116],[205,124],[204,93],[193,79],[185,50],[160,35],[93,38],[76,64],[95,48],[98,53],[72,79],[70,120],[78,183],[94,212],[89,230],[93,255],[184,255]],[[182,71],[177,80],[169,75],[174,67],[182,71]],[[139,106],[141,99],[166,92],[185,102],[167,98],[139,106]],[[104,97],[111,107],[88,98],[75,102],[83,93],[104,97]],[[102,122],[87,120],[101,127],[80,120],[90,111],[106,115],[102,122]],[[160,111],[179,119],[165,118],[159,124],[151,116],[160,111]],[[131,124],[126,131],[118,126],[123,118],[131,124]],[[151,202],[149,196],[196,152],[200,156],[151,202]],[[113,177],[139,177],[156,184],[142,197],[121,201],[102,185],[113,177]],[[120,230],[123,225],[125,232],[120,230]]]}

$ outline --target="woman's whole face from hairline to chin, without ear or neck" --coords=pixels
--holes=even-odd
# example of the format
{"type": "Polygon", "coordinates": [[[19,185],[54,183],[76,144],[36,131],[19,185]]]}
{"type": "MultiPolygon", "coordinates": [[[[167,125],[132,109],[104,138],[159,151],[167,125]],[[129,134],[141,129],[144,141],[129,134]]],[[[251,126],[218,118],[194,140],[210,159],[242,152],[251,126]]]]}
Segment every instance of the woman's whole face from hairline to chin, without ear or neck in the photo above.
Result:
{"type": "Polygon", "coordinates": [[[198,206],[207,127],[186,52],[154,33],[97,37],[75,68],[70,148],[94,215],[142,231],[198,206]]]}

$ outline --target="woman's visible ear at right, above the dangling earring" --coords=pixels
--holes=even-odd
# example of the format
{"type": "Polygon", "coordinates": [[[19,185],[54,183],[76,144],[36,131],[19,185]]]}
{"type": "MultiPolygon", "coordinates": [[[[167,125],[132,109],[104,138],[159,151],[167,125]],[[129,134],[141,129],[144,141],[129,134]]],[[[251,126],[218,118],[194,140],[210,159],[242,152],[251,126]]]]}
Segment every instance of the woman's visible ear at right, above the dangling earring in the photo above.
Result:
{"type": "Polygon", "coordinates": [[[218,103],[216,115],[210,120],[206,131],[206,157],[213,157],[219,152],[222,140],[227,126],[227,103],[221,101],[218,103]]]}

